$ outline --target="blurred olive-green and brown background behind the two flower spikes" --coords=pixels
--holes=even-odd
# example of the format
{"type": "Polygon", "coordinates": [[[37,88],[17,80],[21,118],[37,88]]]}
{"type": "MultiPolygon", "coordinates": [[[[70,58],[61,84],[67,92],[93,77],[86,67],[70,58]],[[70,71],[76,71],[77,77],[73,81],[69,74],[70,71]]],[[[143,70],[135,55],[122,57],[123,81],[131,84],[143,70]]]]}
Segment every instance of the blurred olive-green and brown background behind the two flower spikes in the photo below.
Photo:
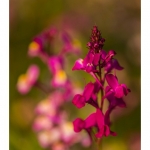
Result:
{"type": "MultiPolygon", "coordinates": [[[[117,137],[104,138],[105,150],[134,150],[130,139],[140,138],[140,1],[120,0],[10,0],[10,149],[42,150],[33,133],[31,124],[36,103],[45,96],[37,89],[22,96],[16,90],[17,78],[25,73],[31,63],[40,66],[40,79],[48,78],[48,70],[38,58],[27,56],[32,38],[49,26],[70,28],[82,44],[84,57],[87,53],[93,25],[97,25],[106,39],[104,49],[114,49],[115,56],[124,71],[117,72],[120,82],[125,82],[131,93],[125,98],[127,108],[116,110],[112,115],[112,129],[117,137]],[[107,143],[107,144],[106,144],[107,143]],[[117,146],[118,145],[118,146],[117,146]]],[[[76,82],[91,78],[83,72],[72,72],[75,61],[68,58],[67,70],[76,82]]],[[[89,109],[76,111],[75,117],[86,117],[89,109]]],[[[135,142],[136,143],[136,142],[135,142]]],[[[140,140],[138,141],[140,143],[140,140]]],[[[132,142],[133,144],[133,142],[132,142]]],[[[78,145],[74,149],[79,149],[78,145]]],[[[140,146],[136,149],[139,150],[140,146]]]]}

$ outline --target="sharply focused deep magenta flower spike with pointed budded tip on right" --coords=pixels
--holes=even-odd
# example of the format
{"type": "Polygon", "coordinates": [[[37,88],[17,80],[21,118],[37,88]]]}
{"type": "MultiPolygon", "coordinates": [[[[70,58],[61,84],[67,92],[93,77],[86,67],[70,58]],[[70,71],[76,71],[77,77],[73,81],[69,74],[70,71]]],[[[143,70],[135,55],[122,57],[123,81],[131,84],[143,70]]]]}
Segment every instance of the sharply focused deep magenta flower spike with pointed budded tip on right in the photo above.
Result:
{"type": "Polygon", "coordinates": [[[102,138],[103,136],[113,135],[116,133],[110,130],[110,114],[116,107],[126,107],[123,97],[126,96],[130,89],[125,84],[120,84],[113,70],[122,70],[119,62],[114,58],[116,52],[103,50],[105,39],[102,38],[101,32],[97,26],[92,29],[90,42],[87,43],[89,49],[84,59],[76,60],[72,70],[83,70],[95,79],[95,82],[89,82],[82,94],[76,94],[72,103],[77,108],[82,108],[86,104],[92,105],[95,112],[90,114],[85,120],[77,118],[73,121],[74,131],[80,132],[85,130],[90,137],[93,135],[93,128],[96,128],[94,137],[102,138]],[[101,99],[98,99],[101,94],[101,99]],[[106,112],[103,111],[104,101],[108,100],[109,105],[106,112]]]}

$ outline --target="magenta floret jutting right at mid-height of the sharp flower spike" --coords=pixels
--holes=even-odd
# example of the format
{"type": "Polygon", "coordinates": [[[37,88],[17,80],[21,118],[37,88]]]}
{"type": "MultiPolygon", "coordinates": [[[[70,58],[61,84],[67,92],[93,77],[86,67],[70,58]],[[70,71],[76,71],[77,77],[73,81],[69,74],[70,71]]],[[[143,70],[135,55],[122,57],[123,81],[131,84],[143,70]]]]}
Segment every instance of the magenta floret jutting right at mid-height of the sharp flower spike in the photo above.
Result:
{"type": "Polygon", "coordinates": [[[115,97],[122,98],[130,92],[125,84],[118,83],[118,79],[113,74],[107,74],[106,80],[110,86],[109,93],[113,92],[115,97]]]}

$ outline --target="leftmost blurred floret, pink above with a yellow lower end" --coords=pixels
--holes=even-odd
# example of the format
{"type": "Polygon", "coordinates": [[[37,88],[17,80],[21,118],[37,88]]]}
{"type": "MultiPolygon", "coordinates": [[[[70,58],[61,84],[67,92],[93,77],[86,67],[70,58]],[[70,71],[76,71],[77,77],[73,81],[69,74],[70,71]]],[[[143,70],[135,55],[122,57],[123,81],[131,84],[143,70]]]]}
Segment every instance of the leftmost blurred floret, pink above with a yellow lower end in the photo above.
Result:
{"type": "Polygon", "coordinates": [[[39,68],[36,65],[31,65],[26,74],[22,74],[18,78],[17,89],[21,94],[26,94],[36,83],[39,76],[39,68]]]}

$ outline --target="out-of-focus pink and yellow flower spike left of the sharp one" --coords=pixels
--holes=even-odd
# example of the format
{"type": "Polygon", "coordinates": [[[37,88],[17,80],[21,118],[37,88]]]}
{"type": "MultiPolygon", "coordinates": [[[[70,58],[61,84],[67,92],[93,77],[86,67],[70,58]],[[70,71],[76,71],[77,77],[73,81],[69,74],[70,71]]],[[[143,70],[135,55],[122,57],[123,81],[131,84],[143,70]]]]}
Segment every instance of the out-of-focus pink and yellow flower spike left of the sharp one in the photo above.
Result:
{"type": "Polygon", "coordinates": [[[71,102],[77,91],[81,91],[68,78],[65,71],[67,54],[78,55],[79,52],[80,44],[77,40],[72,39],[65,31],[58,33],[54,28],[37,35],[29,45],[29,56],[39,57],[51,74],[47,87],[39,82],[40,69],[34,64],[17,82],[17,89],[21,94],[27,94],[32,87],[37,87],[47,94],[46,98],[37,104],[33,121],[33,130],[37,133],[38,141],[43,148],[66,150],[79,142],[83,146],[90,145],[91,141],[87,134],[79,135],[74,132],[67,110],[63,107],[71,102]],[[61,39],[62,47],[59,54],[52,54],[50,47],[53,46],[56,36],[61,39]]]}

